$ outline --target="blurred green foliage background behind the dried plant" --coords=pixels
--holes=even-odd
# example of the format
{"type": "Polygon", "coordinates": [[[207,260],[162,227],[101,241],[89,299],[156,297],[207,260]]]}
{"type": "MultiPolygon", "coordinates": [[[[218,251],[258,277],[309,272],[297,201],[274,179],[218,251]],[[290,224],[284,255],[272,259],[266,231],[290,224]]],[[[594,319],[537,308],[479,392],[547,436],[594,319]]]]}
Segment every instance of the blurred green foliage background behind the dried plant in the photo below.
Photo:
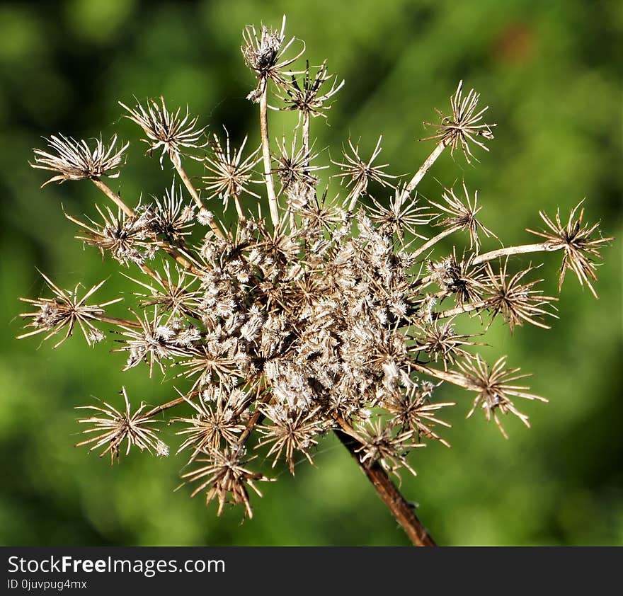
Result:
{"type": "MultiPolygon", "coordinates": [[[[144,158],[139,131],[117,101],[163,95],[188,103],[200,122],[227,125],[237,142],[258,138],[253,88],[241,59],[241,29],[264,21],[307,42],[310,61],[325,57],[346,79],[328,118],[312,123],[318,148],[339,149],[351,134],[363,154],[384,134],[394,173],[428,155],[423,120],[447,109],[457,81],[481,92],[498,122],[479,164],[444,154],[421,183],[436,199],[441,185],[465,178],[479,189],[484,223],[505,243],[530,241],[538,210],[563,214],[586,197],[590,222],[621,238],[622,105],[620,2],[528,0],[356,3],[74,0],[0,3],[0,544],[406,544],[384,505],[345,449],[328,437],[292,478],[263,484],[255,517],[220,518],[178,486],[180,457],[132,454],[122,464],[74,449],[74,406],[91,396],[164,401],[170,381],[151,382],[142,367],[122,373],[110,344],[89,349],[76,336],[62,348],[17,341],[18,297],[38,296],[35,268],[61,287],[112,275],[102,297],[127,290],[115,267],[73,239],[74,216],[101,201],[86,182],[39,190],[45,173],[29,168],[42,135],[130,139],[127,166],[113,188],[125,197],[160,195],[169,167],[144,158]]],[[[280,136],[295,116],[273,115],[280,136]]],[[[327,160],[324,154],[324,160],[327,160]]],[[[189,166],[198,175],[199,168],[189,166]]],[[[130,200],[130,199],[129,199],[130,200]]],[[[459,243],[464,239],[459,239],[459,243]]],[[[460,244],[459,244],[460,246],[460,244]]],[[[486,246],[493,246],[490,244],[486,246]]],[[[450,245],[448,245],[450,248],[450,245]]],[[[550,331],[495,325],[484,349],[491,360],[535,373],[532,389],[549,404],[521,404],[532,430],[513,420],[504,440],[481,416],[464,420],[470,397],[452,387],[441,400],[459,405],[445,432],[452,449],[413,454],[416,478],[402,483],[440,544],[623,544],[622,255],[604,251],[595,301],[568,276],[550,331]]],[[[541,272],[557,292],[559,255],[541,272]]],[[[106,287],[105,287],[106,288],[106,287]]],[[[118,403],[118,402],[115,402],[118,403]]],[[[171,430],[164,430],[165,434],[171,430]]],[[[176,437],[168,437],[172,445],[176,437]]]]}

